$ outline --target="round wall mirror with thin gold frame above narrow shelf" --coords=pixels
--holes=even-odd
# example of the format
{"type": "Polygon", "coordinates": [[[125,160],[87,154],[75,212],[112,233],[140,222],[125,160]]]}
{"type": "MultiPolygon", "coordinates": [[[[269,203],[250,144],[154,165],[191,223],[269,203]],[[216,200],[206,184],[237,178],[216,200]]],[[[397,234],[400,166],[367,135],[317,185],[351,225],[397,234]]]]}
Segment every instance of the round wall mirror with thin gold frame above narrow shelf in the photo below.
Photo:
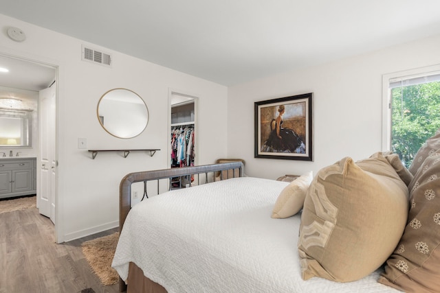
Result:
{"type": "Polygon", "coordinates": [[[128,89],[111,89],[98,102],[98,120],[113,137],[137,137],[148,123],[148,108],[137,93],[128,89]]]}

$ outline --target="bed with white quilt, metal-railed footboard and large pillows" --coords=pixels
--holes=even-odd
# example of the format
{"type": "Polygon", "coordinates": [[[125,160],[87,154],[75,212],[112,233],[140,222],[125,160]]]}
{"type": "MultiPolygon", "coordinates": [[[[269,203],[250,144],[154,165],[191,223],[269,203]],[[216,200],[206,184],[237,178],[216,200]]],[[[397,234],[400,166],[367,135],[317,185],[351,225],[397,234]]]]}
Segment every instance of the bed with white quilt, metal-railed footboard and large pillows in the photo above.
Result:
{"type": "MultiPolygon", "coordinates": [[[[241,162],[127,175],[120,185],[120,240],[112,263],[121,277],[121,292],[438,292],[438,270],[431,270],[428,281],[420,281],[410,272],[393,272],[398,268],[393,261],[399,263],[399,257],[404,256],[400,247],[410,226],[408,185],[417,177],[402,169],[396,156],[373,154],[358,162],[344,158],[324,168],[305,191],[301,211],[284,218],[271,214],[281,194],[295,181],[242,175],[241,162]],[[239,176],[228,172],[230,169],[239,170],[239,176]],[[215,173],[221,174],[222,180],[209,182],[215,173]],[[200,174],[205,175],[204,180],[200,174]],[[133,183],[146,186],[150,180],[176,176],[195,177],[197,185],[150,196],[131,208],[133,183]],[[344,190],[338,180],[344,182],[344,190]],[[369,181],[371,186],[364,186],[369,181]],[[328,198],[332,193],[352,196],[354,189],[350,188],[360,186],[371,189],[371,194],[362,192],[355,201],[366,196],[368,201],[358,207],[347,198],[339,203],[329,200],[339,212],[333,220],[327,213],[325,224],[317,224],[316,218],[322,218],[320,207],[332,209],[322,198],[316,204],[314,193],[318,195],[324,188],[328,198]],[[386,195],[381,194],[384,189],[386,195]],[[347,207],[347,202],[353,205],[347,207]],[[350,213],[342,215],[343,207],[338,204],[350,213]],[[351,213],[362,220],[353,220],[351,213]],[[348,226],[340,228],[344,221],[348,226]],[[325,234],[319,233],[320,228],[329,225],[334,230],[327,233],[325,245],[317,245],[322,239],[316,236],[325,234]],[[345,237],[344,241],[340,237],[345,237]],[[377,242],[371,244],[371,239],[377,242]],[[341,251],[341,246],[347,247],[341,251]],[[418,283],[411,287],[403,281],[402,285],[405,278],[418,283]]],[[[431,261],[429,258],[428,254],[431,261]]]]}

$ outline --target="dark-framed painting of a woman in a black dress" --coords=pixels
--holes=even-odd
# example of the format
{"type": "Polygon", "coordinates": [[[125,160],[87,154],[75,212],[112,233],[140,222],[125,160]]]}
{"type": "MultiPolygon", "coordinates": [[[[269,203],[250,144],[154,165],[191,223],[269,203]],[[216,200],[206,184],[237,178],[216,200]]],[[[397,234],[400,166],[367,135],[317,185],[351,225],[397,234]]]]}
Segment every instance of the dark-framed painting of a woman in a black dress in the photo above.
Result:
{"type": "Polygon", "coordinates": [[[255,102],[255,158],[313,161],[313,93],[255,102]]]}

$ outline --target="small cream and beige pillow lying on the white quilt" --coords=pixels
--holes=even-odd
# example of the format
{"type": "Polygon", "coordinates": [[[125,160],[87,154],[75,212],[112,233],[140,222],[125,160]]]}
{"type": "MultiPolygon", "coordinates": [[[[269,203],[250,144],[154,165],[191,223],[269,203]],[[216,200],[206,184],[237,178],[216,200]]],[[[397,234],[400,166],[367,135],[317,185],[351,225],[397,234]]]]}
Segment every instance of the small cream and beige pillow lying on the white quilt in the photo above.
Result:
{"type": "Polygon", "coordinates": [[[272,218],[289,218],[303,209],[305,193],[313,177],[313,173],[308,172],[289,183],[276,199],[272,218]]]}

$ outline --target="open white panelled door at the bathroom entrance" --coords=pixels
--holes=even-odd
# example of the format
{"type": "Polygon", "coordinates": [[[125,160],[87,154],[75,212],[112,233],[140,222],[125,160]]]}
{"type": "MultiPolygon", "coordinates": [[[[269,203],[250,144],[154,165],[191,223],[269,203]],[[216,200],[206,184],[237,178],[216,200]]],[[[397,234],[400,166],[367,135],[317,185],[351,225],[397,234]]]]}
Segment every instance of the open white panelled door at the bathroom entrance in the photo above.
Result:
{"type": "Polygon", "coordinates": [[[50,218],[55,224],[56,200],[56,86],[40,91],[39,127],[40,156],[37,207],[41,215],[50,218]]]}

